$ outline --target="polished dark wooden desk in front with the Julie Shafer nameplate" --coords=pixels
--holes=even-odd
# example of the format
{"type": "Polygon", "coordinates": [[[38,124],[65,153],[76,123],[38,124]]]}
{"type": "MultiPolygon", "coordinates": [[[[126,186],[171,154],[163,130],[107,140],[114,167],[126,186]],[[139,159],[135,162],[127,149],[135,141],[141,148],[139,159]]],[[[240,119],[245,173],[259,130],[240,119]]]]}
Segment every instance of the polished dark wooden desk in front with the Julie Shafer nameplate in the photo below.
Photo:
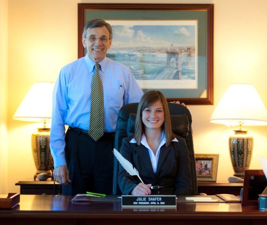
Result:
{"type": "Polygon", "coordinates": [[[12,210],[0,210],[0,223],[6,224],[216,224],[262,225],[267,211],[241,203],[178,202],[176,209],[122,208],[116,196],[101,197],[89,203],[72,203],[71,196],[21,195],[12,210]]]}

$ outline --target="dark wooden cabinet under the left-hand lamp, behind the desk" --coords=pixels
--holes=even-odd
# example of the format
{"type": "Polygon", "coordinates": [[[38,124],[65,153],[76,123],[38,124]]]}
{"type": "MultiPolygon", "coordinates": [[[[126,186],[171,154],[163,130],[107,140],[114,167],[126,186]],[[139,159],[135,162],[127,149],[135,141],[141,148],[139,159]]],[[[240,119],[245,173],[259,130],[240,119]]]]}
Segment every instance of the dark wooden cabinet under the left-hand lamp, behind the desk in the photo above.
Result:
{"type": "Polygon", "coordinates": [[[22,195],[58,195],[61,194],[61,185],[54,181],[19,181],[22,195]]]}

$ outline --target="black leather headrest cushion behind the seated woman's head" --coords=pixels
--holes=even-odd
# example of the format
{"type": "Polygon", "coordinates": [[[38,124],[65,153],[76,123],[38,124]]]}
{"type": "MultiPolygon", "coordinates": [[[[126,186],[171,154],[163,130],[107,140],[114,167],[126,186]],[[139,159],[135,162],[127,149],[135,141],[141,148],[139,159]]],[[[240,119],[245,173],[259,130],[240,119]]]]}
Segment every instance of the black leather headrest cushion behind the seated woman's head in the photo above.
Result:
{"type": "MultiPolygon", "coordinates": [[[[172,131],[175,135],[186,139],[189,131],[189,121],[187,115],[170,115],[172,131]]],[[[136,113],[130,113],[127,121],[127,134],[128,136],[133,135],[135,129],[136,113]]]]}

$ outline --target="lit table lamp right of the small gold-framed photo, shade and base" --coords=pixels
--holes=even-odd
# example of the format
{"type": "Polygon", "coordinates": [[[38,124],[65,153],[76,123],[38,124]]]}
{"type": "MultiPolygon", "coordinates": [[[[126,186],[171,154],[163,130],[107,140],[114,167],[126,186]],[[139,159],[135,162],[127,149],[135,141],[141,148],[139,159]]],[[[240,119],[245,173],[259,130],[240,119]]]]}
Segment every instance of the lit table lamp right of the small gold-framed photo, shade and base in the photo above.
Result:
{"type": "Polygon", "coordinates": [[[253,137],[242,126],[267,125],[267,110],[251,84],[231,84],[210,118],[211,123],[239,126],[229,137],[234,176],[243,177],[253,152],[253,137]]]}

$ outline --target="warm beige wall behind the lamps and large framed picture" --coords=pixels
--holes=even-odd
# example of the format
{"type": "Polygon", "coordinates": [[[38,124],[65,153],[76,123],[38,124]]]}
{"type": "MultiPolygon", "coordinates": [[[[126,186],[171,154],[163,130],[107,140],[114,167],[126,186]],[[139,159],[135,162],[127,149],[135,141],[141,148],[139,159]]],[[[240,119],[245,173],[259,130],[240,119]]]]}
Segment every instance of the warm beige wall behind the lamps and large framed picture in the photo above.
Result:
{"type": "MultiPolygon", "coordinates": [[[[38,125],[12,120],[12,116],[35,81],[55,81],[61,67],[77,59],[77,42],[80,41],[77,40],[77,3],[86,2],[143,3],[137,0],[0,2],[1,68],[7,67],[7,71],[1,69],[0,89],[4,92],[3,95],[1,92],[0,98],[0,122],[1,125],[7,125],[8,131],[8,147],[2,146],[2,143],[0,145],[0,169],[7,174],[6,179],[0,179],[0,194],[19,192],[19,187],[15,186],[16,182],[33,180],[36,169],[31,154],[30,137],[38,125]],[[5,7],[7,3],[8,9],[5,7]],[[7,17],[8,27],[3,22],[7,17]],[[3,31],[7,28],[8,40],[5,40],[3,31]],[[2,48],[5,49],[4,46],[7,44],[8,60],[5,59],[5,53],[2,54],[2,48]],[[5,79],[8,80],[8,88],[5,82],[2,83],[5,79]],[[4,160],[6,163],[1,163],[2,157],[7,159],[4,160]]],[[[253,84],[267,106],[267,1],[147,0],[146,3],[214,4],[214,105],[188,105],[188,108],[193,116],[195,153],[220,154],[217,182],[226,182],[227,177],[233,175],[228,152],[228,137],[232,134],[233,128],[211,124],[209,118],[232,83],[253,84]]],[[[254,153],[250,169],[260,169],[256,156],[267,157],[267,126],[247,129],[254,136],[254,153]]],[[[0,132],[1,136],[5,135],[4,132],[0,132]]]]}

